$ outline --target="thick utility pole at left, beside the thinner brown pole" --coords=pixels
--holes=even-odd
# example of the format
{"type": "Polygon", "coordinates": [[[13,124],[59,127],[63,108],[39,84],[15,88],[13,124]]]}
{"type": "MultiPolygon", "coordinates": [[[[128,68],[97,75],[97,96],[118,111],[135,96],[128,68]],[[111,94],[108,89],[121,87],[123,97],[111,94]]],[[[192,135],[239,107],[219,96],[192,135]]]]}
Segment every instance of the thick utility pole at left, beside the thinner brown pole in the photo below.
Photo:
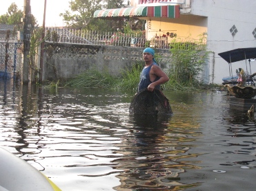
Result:
{"type": "Polygon", "coordinates": [[[30,37],[31,37],[31,7],[30,0],[24,0],[23,10],[23,84],[28,84],[29,74],[29,52],[30,52],[30,37]]]}

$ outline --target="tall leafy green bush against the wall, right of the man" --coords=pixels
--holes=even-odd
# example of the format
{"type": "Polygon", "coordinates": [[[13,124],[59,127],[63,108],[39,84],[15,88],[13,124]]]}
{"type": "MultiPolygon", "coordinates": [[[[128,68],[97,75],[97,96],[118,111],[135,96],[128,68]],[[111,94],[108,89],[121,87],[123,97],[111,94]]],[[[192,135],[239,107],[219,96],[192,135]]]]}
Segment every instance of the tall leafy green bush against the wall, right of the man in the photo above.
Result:
{"type": "Polygon", "coordinates": [[[188,90],[205,87],[203,79],[199,76],[209,54],[206,50],[206,36],[199,36],[199,40],[173,38],[170,44],[170,81],[166,83],[166,89],[188,90]]]}

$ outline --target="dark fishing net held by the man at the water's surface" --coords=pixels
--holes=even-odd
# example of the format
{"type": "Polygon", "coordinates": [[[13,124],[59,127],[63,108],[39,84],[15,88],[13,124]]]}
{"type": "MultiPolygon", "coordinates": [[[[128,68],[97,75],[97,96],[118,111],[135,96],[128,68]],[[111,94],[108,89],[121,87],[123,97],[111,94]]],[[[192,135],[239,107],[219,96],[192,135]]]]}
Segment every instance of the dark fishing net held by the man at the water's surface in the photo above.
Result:
{"type": "Polygon", "coordinates": [[[139,91],[132,98],[129,110],[132,114],[173,114],[168,99],[158,89],[139,91]]]}

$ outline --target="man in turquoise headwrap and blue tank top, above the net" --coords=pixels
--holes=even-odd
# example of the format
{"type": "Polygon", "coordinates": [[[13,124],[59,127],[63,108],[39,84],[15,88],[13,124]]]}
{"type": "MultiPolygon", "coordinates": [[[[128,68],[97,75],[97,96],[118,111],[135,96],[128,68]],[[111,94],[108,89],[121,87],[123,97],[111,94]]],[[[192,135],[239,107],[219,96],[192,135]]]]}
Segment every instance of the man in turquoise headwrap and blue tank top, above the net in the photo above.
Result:
{"type": "Polygon", "coordinates": [[[141,71],[140,81],[138,85],[138,91],[142,89],[148,89],[148,91],[153,91],[154,89],[160,89],[160,85],[168,82],[169,78],[157,65],[154,58],[154,49],[147,47],[143,52],[143,59],[145,62],[145,67],[141,71]]]}

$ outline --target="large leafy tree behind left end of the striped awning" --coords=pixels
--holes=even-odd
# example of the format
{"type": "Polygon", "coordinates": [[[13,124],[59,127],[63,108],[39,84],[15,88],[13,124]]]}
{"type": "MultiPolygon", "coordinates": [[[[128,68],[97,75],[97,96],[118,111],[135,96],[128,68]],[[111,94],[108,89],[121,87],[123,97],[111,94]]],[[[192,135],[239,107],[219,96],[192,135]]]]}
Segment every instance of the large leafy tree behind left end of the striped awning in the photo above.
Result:
{"type": "Polygon", "coordinates": [[[63,20],[70,27],[86,30],[112,30],[117,21],[93,18],[96,10],[104,8],[121,8],[123,0],[71,0],[70,11],[61,13],[63,20]]]}

